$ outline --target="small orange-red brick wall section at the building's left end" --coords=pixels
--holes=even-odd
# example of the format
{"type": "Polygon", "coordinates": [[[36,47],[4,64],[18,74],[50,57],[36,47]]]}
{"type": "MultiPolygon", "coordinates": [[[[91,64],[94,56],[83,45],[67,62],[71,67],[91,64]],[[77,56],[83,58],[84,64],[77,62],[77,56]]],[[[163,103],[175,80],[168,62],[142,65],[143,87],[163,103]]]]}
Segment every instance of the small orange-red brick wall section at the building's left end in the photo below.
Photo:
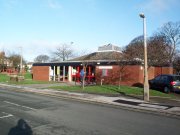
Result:
{"type": "Polygon", "coordinates": [[[33,66],[33,80],[49,81],[49,66],[33,66]]]}

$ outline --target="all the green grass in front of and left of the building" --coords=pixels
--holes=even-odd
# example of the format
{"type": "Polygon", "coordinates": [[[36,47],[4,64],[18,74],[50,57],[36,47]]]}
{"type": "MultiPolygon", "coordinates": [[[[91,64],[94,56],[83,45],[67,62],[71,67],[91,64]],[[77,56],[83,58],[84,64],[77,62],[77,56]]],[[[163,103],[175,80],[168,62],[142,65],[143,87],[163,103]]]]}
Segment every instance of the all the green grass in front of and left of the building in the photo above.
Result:
{"type": "MultiPolygon", "coordinates": [[[[30,73],[24,74],[24,77],[25,77],[25,80],[16,82],[16,81],[10,81],[10,77],[8,75],[0,74],[0,82],[8,83],[8,84],[17,84],[17,85],[55,83],[55,82],[45,82],[45,81],[34,81],[32,80],[32,75],[30,73]]],[[[118,86],[114,86],[114,85],[103,85],[103,86],[96,85],[96,86],[86,86],[84,90],[82,90],[80,86],[53,86],[49,88],[56,89],[56,90],[86,92],[86,93],[94,93],[94,94],[109,94],[109,95],[121,94],[121,95],[137,95],[137,96],[143,95],[142,88],[129,87],[129,86],[121,86],[121,88],[118,89],[118,86]]],[[[163,92],[156,91],[156,90],[150,90],[150,96],[180,99],[180,96],[175,96],[174,94],[165,94],[163,92]]]]}

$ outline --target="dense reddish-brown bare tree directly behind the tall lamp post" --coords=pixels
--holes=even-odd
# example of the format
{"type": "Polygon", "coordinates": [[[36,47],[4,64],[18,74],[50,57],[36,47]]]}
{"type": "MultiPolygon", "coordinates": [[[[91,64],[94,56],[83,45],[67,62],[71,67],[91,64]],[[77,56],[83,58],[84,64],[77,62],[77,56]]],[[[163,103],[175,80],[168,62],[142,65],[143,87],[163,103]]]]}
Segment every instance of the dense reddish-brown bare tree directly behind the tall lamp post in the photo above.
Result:
{"type": "MultiPolygon", "coordinates": [[[[143,37],[139,36],[132,40],[129,45],[126,46],[124,58],[129,62],[143,63],[144,61],[144,45],[143,37]]],[[[162,66],[168,63],[169,45],[165,42],[164,37],[160,35],[154,35],[147,40],[147,55],[148,66],[162,66]]]]}

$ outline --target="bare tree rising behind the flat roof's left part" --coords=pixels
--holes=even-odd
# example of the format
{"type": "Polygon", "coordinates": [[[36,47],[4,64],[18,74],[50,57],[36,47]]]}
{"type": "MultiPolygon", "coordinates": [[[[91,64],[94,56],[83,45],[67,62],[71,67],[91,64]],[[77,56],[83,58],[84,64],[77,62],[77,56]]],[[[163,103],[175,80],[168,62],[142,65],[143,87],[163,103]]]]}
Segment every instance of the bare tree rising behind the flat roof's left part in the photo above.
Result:
{"type": "Polygon", "coordinates": [[[53,52],[53,59],[58,61],[65,61],[69,58],[73,57],[73,49],[71,45],[68,44],[62,44],[59,47],[56,48],[56,51],[53,52]]]}

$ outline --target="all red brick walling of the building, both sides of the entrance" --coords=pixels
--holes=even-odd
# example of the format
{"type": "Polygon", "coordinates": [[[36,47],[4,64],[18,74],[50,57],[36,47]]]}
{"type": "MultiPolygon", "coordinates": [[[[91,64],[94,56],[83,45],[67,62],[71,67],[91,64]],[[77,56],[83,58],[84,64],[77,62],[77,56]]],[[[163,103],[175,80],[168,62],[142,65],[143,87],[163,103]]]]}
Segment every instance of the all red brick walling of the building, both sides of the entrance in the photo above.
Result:
{"type": "MultiPolygon", "coordinates": [[[[49,81],[49,66],[33,66],[33,79],[41,81],[49,81]]],[[[95,78],[96,83],[100,84],[119,84],[119,76],[121,73],[121,85],[142,86],[144,82],[144,70],[140,65],[127,65],[119,67],[113,66],[96,66],[95,78]],[[101,69],[100,67],[103,67],[101,69]],[[106,68],[107,67],[107,68],[106,68]],[[104,76],[102,76],[104,74],[104,76]],[[103,81],[102,81],[103,80],[103,81]]],[[[152,79],[159,74],[173,74],[173,68],[170,67],[150,67],[148,69],[148,78],[152,79]]]]}

